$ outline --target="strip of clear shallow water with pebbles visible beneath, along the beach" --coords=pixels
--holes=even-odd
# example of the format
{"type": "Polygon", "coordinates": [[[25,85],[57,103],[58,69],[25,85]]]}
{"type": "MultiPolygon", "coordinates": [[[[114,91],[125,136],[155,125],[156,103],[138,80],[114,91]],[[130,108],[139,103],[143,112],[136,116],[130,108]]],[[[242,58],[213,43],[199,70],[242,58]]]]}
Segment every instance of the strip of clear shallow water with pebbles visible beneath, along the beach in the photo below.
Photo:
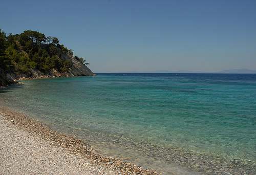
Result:
{"type": "MultiPolygon", "coordinates": [[[[13,110],[17,111],[17,109],[11,111],[13,110]]],[[[161,174],[253,174],[256,170],[255,163],[246,159],[224,158],[220,155],[182,150],[176,147],[159,147],[159,145],[147,142],[136,143],[118,135],[93,132],[83,132],[81,135],[80,129],[49,123],[49,121],[37,118],[31,113],[28,115],[20,110],[17,112],[30,116],[31,119],[39,121],[56,133],[80,139],[100,155],[114,157],[145,169],[154,169],[161,174]]]]}

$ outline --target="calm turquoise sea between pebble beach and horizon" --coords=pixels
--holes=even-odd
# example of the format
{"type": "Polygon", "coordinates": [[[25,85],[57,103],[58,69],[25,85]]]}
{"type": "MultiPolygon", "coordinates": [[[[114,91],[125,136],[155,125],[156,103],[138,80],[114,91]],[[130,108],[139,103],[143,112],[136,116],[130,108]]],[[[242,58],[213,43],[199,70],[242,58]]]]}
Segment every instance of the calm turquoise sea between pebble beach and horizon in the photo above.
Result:
{"type": "Polygon", "coordinates": [[[100,154],[181,174],[197,173],[161,159],[165,150],[256,162],[256,74],[97,73],[19,81],[0,89],[0,105],[100,154]]]}

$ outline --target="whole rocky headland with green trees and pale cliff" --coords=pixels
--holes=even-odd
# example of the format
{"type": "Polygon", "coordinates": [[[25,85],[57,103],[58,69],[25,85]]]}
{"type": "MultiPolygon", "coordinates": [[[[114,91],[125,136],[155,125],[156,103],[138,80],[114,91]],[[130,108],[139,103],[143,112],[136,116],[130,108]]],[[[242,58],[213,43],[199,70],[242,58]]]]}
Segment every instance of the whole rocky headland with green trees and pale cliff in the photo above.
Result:
{"type": "Polygon", "coordinates": [[[56,37],[31,30],[6,36],[0,29],[0,86],[20,78],[93,76],[88,64],[56,37]]]}

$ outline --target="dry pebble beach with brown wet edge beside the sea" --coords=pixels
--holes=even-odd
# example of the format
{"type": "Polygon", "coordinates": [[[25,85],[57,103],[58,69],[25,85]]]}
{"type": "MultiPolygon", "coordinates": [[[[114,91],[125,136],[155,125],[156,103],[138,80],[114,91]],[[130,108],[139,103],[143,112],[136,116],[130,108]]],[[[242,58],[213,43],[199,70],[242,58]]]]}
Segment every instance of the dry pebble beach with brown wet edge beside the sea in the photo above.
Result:
{"type": "Polygon", "coordinates": [[[0,174],[157,174],[0,106],[0,174]]]}

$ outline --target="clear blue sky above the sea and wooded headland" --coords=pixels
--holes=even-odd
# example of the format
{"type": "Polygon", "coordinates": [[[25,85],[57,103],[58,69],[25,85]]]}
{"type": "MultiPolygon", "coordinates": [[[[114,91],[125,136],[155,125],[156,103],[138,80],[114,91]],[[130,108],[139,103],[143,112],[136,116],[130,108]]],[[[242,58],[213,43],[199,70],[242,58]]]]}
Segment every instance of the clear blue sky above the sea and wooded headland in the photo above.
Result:
{"type": "Polygon", "coordinates": [[[255,0],[2,0],[0,29],[57,37],[94,73],[256,70],[255,0]]]}

